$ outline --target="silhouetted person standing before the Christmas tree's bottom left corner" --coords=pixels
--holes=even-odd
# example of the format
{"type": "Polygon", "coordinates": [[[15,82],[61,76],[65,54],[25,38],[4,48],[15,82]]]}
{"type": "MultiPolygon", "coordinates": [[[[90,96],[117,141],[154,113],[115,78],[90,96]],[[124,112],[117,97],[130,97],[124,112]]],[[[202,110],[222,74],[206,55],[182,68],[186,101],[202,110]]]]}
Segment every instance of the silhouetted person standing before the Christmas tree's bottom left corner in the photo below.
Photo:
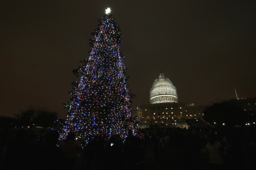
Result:
{"type": "Polygon", "coordinates": [[[81,143],[75,141],[75,134],[69,133],[66,139],[60,144],[60,149],[64,151],[65,169],[72,170],[75,164],[75,158],[79,151],[82,151],[81,143]]]}

